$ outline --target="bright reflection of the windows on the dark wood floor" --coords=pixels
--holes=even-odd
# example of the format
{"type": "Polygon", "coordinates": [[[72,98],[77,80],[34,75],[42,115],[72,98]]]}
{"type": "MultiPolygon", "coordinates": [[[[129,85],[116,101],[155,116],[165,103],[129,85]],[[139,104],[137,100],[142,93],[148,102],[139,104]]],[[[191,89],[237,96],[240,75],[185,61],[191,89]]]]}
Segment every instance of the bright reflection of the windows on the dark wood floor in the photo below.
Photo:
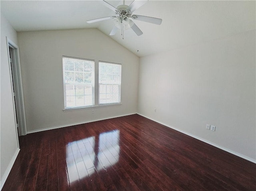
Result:
{"type": "Polygon", "coordinates": [[[66,145],[67,176],[70,184],[106,170],[119,159],[119,130],[100,133],[66,145]]]}

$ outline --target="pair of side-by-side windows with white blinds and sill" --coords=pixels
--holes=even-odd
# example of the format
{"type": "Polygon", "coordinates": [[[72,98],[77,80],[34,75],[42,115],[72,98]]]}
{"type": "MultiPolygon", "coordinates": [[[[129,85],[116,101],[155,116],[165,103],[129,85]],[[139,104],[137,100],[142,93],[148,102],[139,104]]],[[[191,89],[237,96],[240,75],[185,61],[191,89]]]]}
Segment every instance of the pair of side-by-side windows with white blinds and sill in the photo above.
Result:
{"type": "Polygon", "coordinates": [[[64,111],[121,104],[121,64],[100,61],[98,72],[90,59],[62,56],[62,64],[64,111]]]}

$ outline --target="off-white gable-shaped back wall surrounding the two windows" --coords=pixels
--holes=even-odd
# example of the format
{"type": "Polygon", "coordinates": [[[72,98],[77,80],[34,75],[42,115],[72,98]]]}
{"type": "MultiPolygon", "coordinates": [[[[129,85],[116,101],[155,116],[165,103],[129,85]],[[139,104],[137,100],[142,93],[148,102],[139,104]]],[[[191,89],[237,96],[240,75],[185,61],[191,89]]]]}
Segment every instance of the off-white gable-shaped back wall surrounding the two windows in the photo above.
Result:
{"type": "Polygon", "coordinates": [[[99,30],[19,32],[18,44],[28,131],[137,112],[139,58],[99,30]],[[63,112],[62,55],[121,63],[122,105],[63,112]]]}

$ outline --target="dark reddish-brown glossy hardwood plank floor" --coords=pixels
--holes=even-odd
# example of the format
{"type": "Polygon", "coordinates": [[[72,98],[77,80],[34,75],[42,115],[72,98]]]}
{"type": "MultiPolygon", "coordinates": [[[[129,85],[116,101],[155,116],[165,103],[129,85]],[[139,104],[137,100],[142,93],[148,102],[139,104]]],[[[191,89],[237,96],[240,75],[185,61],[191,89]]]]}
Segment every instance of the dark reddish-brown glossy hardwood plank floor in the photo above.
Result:
{"type": "Polygon", "coordinates": [[[137,114],[20,137],[2,191],[255,191],[256,164],[137,114]]]}

